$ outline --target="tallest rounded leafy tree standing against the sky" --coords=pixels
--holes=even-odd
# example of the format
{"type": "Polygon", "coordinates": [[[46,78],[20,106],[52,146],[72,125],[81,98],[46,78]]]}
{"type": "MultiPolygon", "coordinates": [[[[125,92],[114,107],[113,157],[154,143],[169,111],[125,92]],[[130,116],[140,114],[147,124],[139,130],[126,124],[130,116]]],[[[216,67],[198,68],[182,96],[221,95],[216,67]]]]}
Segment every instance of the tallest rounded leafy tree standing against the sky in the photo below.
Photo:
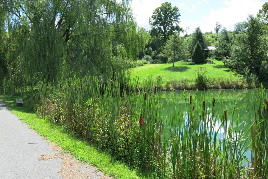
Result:
{"type": "Polygon", "coordinates": [[[176,6],[172,7],[170,2],[161,4],[149,18],[152,35],[160,36],[161,43],[165,43],[174,32],[182,32],[183,29],[179,26],[179,17],[179,9],[176,6]]]}

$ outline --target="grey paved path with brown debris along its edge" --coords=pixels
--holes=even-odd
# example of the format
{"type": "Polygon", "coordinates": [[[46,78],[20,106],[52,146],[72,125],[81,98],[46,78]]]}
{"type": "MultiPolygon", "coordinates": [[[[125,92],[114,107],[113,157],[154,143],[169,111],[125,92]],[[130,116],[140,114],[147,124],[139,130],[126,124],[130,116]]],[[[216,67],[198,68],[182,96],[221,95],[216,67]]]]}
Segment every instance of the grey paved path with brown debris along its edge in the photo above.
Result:
{"type": "Polygon", "coordinates": [[[41,138],[0,101],[0,179],[108,178],[41,138]]]}

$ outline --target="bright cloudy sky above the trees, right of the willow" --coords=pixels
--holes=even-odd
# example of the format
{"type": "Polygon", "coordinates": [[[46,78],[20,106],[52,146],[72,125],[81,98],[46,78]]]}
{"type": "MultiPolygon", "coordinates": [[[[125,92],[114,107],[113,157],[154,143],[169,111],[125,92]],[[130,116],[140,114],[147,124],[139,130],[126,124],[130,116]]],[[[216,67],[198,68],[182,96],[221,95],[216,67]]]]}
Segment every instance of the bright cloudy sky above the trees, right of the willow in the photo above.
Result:
{"type": "MultiPolygon", "coordinates": [[[[176,6],[180,12],[180,27],[189,27],[192,33],[200,27],[203,33],[214,32],[215,23],[219,22],[227,30],[233,30],[234,24],[246,20],[247,16],[256,15],[267,0],[166,0],[176,6]]],[[[153,10],[165,0],[132,0],[133,13],[139,27],[150,30],[149,17],[153,10]]]]}

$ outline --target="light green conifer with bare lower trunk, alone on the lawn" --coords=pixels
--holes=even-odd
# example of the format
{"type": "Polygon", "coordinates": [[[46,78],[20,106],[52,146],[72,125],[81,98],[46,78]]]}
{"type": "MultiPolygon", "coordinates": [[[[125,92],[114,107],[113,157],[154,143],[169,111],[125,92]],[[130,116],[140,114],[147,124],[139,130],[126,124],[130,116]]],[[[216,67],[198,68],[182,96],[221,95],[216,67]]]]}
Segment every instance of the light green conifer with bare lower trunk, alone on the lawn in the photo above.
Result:
{"type": "Polygon", "coordinates": [[[184,38],[180,37],[178,33],[174,33],[163,47],[163,54],[167,57],[171,57],[173,61],[172,67],[176,59],[185,60],[188,57],[188,51],[184,38]]]}

